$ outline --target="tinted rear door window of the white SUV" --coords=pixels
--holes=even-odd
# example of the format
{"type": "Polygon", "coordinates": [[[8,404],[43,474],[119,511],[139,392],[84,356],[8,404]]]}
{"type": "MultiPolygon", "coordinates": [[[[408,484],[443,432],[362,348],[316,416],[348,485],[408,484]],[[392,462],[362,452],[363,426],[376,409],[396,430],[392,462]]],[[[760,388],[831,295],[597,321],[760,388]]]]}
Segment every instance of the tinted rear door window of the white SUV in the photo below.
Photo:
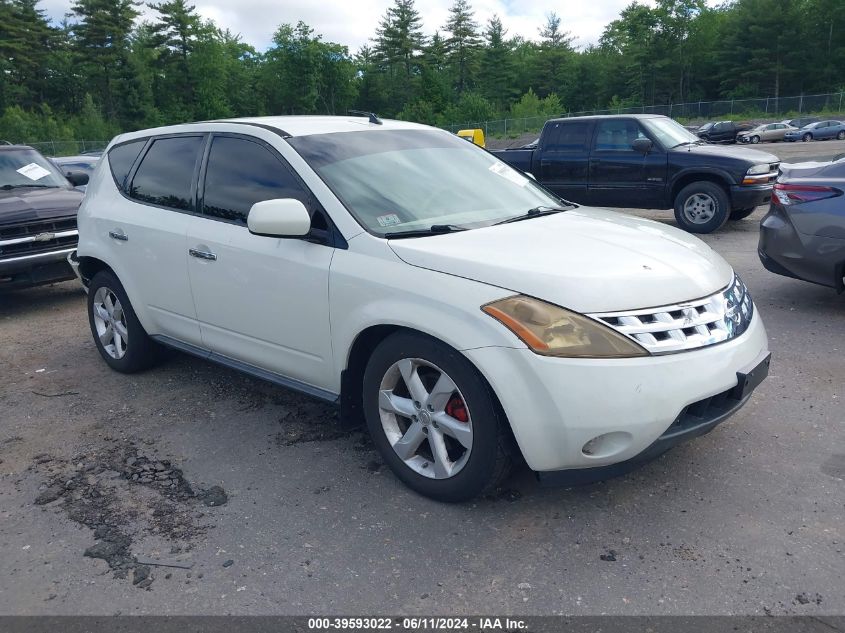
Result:
{"type": "Polygon", "coordinates": [[[191,180],[202,141],[201,136],[153,141],[132,178],[129,195],[173,209],[192,209],[191,180]]]}

